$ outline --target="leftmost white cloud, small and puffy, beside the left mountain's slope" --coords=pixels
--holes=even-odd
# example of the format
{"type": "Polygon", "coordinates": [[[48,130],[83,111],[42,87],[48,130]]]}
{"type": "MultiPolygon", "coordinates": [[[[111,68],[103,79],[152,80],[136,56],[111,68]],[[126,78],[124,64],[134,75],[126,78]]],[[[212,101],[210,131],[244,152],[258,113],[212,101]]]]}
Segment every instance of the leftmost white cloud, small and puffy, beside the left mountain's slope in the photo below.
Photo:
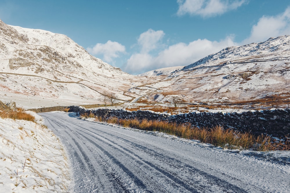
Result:
{"type": "Polygon", "coordinates": [[[103,60],[112,62],[113,58],[119,57],[119,53],[125,53],[126,48],[118,42],[107,41],[107,43],[97,43],[93,48],[88,47],[88,52],[92,55],[102,54],[103,60]]]}

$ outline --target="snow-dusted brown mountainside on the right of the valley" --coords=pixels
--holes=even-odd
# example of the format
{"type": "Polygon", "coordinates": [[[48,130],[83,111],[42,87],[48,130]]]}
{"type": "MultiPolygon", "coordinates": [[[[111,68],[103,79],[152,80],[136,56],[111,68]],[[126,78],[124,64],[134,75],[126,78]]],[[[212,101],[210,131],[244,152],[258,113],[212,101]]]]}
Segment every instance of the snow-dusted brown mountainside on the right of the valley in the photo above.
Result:
{"type": "Polygon", "coordinates": [[[290,36],[286,35],[227,47],[169,74],[168,69],[159,69],[160,76],[152,72],[144,75],[160,79],[149,87],[164,93],[174,91],[188,101],[244,101],[271,94],[289,96],[289,64],[290,36]]]}

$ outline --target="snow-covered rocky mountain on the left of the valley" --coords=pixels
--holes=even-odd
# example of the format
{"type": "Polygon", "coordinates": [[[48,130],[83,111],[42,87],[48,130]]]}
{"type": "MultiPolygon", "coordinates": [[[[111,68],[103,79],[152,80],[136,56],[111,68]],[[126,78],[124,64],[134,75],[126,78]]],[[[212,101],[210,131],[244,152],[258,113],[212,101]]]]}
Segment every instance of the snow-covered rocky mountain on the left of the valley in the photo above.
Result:
{"type": "MultiPolygon", "coordinates": [[[[140,78],[91,56],[62,34],[10,26],[0,20],[0,100],[24,106],[46,103],[102,102],[102,93],[120,100],[124,91],[141,84],[140,78]],[[135,83],[136,82],[136,83],[135,83]],[[18,101],[17,101],[18,100],[18,101]]],[[[43,104],[45,106],[45,104],[43,104]]]]}

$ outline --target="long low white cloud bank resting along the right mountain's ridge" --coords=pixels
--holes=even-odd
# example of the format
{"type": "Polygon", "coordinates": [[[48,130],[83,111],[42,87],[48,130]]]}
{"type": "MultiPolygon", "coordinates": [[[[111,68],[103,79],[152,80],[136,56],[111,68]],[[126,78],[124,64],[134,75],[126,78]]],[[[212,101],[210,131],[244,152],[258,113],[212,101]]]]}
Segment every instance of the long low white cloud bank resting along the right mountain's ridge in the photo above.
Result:
{"type": "Polygon", "coordinates": [[[209,54],[233,45],[236,45],[233,36],[221,41],[198,39],[189,44],[177,43],[162,50],[155,57],[148,53],[133,54],[124,66],[124,70],[138,74],[158,68],[190,65],[209,54]]]}

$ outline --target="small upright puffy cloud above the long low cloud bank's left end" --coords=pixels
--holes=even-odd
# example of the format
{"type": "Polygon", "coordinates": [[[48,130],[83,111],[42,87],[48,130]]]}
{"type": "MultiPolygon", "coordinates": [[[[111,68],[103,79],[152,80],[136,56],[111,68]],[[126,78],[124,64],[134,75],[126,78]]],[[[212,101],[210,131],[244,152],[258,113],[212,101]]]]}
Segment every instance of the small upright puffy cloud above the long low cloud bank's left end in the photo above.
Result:
{"type": "Polygon", "coordinates": [[[141,52],[148,53],[155,49],[164,35],[165,33],[162,30],[154,31],[152,29],[140,34],[138,44],[141,46],[141,52]]]}

